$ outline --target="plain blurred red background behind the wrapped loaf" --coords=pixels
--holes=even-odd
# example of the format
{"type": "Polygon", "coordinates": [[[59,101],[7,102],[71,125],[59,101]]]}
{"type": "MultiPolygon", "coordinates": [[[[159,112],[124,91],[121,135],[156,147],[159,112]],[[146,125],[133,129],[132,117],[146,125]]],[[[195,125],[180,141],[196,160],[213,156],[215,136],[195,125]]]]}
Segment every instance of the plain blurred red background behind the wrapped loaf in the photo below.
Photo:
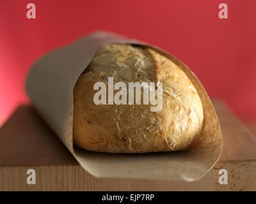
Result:
{"type": "Polygon", "coordinates": [[[104,29],[164,48],[191,68],[211,97],[240,117],[256,117],[256,1],[0,1],[0,124],[28,103],[33,62],[56,47],[104,29]],[[28,19],[28,3],[36,19],[28,19]],[[228,19],[218,5],[228,5],[228,19]]]}

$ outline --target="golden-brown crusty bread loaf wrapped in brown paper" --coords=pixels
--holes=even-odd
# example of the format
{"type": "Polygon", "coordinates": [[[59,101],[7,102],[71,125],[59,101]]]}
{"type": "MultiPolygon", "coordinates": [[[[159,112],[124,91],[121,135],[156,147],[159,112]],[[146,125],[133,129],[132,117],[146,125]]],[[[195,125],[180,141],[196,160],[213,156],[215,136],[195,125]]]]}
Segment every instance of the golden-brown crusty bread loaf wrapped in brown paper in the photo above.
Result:
{"type": "Polygon", "coordinates": [[[189,78],[152,48],[104,45],[74,87],[74,143],[83,149],[111,153],[184,150],[198,138],[203,123],[202,102],[189,78]],[[114,83],[163,82],[163,109],[152,112],[150,104],[95,105],[93,85],[104,82],[108,87],[108,77],[114,83]]]}

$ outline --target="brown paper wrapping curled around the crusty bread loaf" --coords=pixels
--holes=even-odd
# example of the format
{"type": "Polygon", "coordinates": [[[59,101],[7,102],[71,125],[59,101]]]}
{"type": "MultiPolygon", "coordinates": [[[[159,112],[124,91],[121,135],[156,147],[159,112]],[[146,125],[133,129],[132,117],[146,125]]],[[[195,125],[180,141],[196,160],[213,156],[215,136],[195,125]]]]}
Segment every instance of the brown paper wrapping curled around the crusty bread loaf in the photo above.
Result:
{"type": "MultiPolygon", "coordinates": [[[[122,177],[193,181],[202,177],[221,154],[222,136],[218,118],[204,87],[178,59],[163,50],[184,70],[195,85],[204,106],[204,129],[192,147],[179,152],[108,154],[77,148],[72,141],[73,89],[97,49],[105,43],[148,45],[118,34],[97,32],[45,55],[31,69],[26,90],[35,106],[84,170],[95,177],[122,177]]],[[[200,59],[198,59],[200,60],[200,59]]]]}

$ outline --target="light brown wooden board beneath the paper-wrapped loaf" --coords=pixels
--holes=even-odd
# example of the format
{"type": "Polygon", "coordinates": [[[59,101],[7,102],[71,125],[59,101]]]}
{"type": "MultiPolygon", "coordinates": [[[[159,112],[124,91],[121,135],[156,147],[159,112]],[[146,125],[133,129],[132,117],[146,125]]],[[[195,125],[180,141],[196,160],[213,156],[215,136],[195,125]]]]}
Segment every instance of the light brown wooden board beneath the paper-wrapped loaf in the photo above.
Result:
{"type": "Polygon", "coordinates": [[[196,182],[97,179],[84,171],[30,106],[20,106],[0,129],[0,191],[256,191],[256,141],[221,101],[220,160],[196,182]],[[28,169],[36,184],[28,185],[28,169]],[[221,169],[228,184],[219,184],[221,169]]]}

